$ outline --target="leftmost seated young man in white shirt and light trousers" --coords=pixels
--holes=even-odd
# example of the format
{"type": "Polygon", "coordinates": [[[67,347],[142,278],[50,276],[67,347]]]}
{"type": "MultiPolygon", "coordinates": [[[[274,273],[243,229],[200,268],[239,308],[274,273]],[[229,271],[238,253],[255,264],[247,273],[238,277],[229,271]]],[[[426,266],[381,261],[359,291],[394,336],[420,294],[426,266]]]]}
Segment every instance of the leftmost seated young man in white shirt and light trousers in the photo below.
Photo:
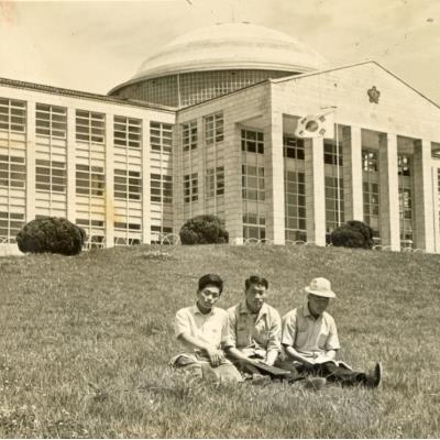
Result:
{"type": "Polygon", "coordinates": [[[215,305],[222,290],[220,276],[204,275],[198,282],[196,304],[177,311],[175,334],[188,351],[175,356],[172,365],[198,378],[241,382],[240,373],[221,349],[228,336],[228,312],[215,305]]]}

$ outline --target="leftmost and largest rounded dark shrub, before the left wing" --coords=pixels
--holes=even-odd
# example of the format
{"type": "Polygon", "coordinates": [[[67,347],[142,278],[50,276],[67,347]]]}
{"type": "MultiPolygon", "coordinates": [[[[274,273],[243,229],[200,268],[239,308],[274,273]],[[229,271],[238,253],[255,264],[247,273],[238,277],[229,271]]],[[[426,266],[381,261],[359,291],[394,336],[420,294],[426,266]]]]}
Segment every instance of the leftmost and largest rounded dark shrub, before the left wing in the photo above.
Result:
{"type": "Polygon", "coordinates": [[[16,234],[21,252],[77,255],[86,241],[82,228],[61,217],[44,217],[26,223],[16,234]]]}

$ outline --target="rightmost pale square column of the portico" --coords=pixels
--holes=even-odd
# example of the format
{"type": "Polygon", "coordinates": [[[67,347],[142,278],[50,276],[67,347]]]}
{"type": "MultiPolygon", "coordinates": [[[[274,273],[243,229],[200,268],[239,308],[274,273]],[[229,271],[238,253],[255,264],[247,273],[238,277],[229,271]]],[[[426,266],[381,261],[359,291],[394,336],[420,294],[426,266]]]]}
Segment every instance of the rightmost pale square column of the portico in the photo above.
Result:
{"type": "Polygon", "coordinates": [[[414,215],[416,248],[435,252],[431,144],[420,140],[414,146],[414,215]]]}

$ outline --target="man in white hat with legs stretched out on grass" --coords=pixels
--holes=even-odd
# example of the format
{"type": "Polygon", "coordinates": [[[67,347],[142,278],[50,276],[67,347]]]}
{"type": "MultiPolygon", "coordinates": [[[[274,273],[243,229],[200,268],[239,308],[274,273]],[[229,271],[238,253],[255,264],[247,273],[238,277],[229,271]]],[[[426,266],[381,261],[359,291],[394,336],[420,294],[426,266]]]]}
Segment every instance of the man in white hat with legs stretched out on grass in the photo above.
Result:
{"type": "Polygon", "coordinates": [[[382,366],[376,364],[370,374],[354,372],[344,362],[336,361],[340,349],[334,319],[326,311],[330,299],[336,298],[327,278],[314,278],[305,287],[307,302],[283,318],[282,344],[298,372],[308,372],[342,385],[362,384],[377,387],[382,366]]]}

